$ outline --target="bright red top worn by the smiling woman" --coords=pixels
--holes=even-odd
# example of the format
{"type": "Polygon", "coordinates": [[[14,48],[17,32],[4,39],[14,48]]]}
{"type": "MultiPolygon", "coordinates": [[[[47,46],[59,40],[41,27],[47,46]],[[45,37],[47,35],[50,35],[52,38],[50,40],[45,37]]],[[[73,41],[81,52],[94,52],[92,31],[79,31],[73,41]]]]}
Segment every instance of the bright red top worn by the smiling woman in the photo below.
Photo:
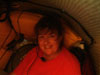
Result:
{"type": "Polygon", "coordinates": [[[42,61],[42,53],[37,56],[37,47],[33,48],[18,67],[13,71],[16,75],[81,75],[80,63],[65,48],[55,59],[42,61]]]}

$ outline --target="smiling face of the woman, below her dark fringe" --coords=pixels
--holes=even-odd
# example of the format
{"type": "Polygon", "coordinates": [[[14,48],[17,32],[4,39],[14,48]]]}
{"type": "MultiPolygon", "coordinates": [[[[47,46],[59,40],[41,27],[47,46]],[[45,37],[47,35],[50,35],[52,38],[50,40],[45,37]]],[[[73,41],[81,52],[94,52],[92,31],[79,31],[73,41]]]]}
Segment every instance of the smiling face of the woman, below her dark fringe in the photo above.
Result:
{"type": "Polygon", "coordinates": [[[58,52],[61,38],[57,33],[42,31],[38,35],[38,44],[45,55],[52,55],[58,52]]]}

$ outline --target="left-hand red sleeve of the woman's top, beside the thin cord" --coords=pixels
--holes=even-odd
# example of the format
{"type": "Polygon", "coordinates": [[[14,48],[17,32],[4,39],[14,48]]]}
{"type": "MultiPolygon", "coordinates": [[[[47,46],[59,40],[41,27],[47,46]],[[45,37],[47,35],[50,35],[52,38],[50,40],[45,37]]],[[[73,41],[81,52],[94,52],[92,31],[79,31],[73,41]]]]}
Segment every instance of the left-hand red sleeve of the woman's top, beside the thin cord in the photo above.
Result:
{"type": "Polygon", "coordinates": [[[35,58],[34,51],[34,48],[29,51],[20,64],[13,70],[13,72],[10,73],[10,75],[22,75],[30,61],[35,58]]]}

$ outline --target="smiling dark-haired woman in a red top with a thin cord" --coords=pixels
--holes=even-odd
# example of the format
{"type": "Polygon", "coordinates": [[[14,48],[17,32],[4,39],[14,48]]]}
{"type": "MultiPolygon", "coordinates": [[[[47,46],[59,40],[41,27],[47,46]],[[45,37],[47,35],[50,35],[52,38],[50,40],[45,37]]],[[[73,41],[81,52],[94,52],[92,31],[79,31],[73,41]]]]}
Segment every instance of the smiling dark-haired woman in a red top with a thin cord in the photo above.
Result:
{"type": "Polygon", "coordinates": [[[11,75],[81,75],[78,60],[63,47],[59,17],[43,17],[35,33],[38,46],[28,52],[11,75]]]}

